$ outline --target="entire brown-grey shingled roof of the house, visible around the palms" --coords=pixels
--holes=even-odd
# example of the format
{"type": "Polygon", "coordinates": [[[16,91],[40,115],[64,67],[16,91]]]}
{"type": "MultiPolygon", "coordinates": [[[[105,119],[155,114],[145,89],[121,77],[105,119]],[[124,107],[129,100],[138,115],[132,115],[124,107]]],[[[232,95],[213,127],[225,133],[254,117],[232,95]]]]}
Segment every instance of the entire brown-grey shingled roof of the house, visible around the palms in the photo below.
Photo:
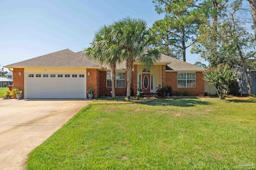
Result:
{"type": "MultiPolygon", "coordinates": [[[[178,59],[174,59],[167,55],[161,55],[160,61],[157,63],[166,63],[166,70],[173,71],[204,71],[205,69],[194,64],[186,63],[178,59]],[[170,64],[168,64],[170,63],[170,64]]],[[[28,59],[4,67],[97,67],[104,70],[110,70],[108,65],[102,66],[95,61],[85,59],[82,51],[74,53],[70,49],[64,49],[47,55],[42,55],[33,59],[28,59]]],[[[117,64],[116,70],[126,70],[125,62],[117,64]]]]}

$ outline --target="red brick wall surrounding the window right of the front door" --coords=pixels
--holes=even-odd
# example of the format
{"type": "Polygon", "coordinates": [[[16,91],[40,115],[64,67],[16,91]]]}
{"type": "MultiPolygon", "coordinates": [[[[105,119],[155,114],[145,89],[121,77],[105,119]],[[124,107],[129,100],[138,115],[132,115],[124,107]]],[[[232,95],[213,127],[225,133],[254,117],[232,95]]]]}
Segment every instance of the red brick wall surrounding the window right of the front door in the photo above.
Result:
{"type": "Polygon", "coordinates": [[[190,92],[191,96],[204,94],[204,75],[202,72],[196,72],[196,87],[195,88],[178,88],[178,72],[166,72],[166,86],[172,87],[172,95],[176,92],[190,92]]]}

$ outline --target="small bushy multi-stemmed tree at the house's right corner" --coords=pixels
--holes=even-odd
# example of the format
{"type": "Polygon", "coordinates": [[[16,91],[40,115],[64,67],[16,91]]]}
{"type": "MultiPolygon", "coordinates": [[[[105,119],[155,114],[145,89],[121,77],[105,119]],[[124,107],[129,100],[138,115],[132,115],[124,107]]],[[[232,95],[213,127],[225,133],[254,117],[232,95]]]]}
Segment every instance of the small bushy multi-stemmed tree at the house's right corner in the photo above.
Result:
{"type": "Polygon", "coordinates": [[[234,82],[236,76],[236,70],[230,68],[227,64],[211,66],[204,72],[204,80],[214,84],[220,99],[225,99],[230,84],[234,82]]]}

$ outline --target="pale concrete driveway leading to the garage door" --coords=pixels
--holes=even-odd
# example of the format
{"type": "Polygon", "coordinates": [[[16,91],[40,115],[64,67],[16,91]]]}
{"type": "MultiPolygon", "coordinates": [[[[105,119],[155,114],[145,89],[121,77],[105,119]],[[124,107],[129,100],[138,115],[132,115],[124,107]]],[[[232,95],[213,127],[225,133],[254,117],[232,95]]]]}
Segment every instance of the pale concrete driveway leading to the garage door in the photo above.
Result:
{"type": "Polygon", "coordinates": [[[24,169],[28,154],[91,102],[0,100],[0,169],[24,169]]]}

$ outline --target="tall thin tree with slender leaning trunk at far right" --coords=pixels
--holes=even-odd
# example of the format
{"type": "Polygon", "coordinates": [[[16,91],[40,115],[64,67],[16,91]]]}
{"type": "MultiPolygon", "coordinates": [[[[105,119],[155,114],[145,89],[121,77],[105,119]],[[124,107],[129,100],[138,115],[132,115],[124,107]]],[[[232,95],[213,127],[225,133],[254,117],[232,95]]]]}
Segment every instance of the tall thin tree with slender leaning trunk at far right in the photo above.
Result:
{"type": "Polygon", "coordinates": [[[227,15],[223,16],[224,22],[221,25],[221,29],[226,35],[230,47],[235,47],[231,48],[231,53],[235,54],[238,64],[242,66],[245,73],[248,94],[249,96],[253,96],[251,80],[248,74],[248,59],[256,57],[256,44],[254,36],[244,28],[246,19],[241,15],[243,11],[241,1],[230,3],[226,9],[227,15]]]}

